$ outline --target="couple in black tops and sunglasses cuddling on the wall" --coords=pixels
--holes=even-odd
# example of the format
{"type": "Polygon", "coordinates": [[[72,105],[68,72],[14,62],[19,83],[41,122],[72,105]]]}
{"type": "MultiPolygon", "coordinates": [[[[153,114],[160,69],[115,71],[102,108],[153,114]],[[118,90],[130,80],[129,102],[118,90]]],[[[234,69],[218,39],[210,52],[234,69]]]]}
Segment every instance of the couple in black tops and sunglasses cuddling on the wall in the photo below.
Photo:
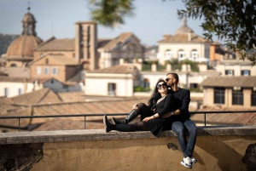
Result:
{"type": "Polygon", "coordinates": [[[114,117],[113,123],[108,122],[108,117],[104,116],[106,133],[111,130],[124,132],[150,131],[155,137],[160,137],[162,131],[170,130],[177,134],[177,139],[183,151],[183,166],[192,168],[196,160],[193,151],[196,141],[196,127],[189,117],[190,92],[188,89],[178,88],[177,73],[168,73],[165,80],[159,80],[154,88],[154,92],[148,100],[148,105],[143,103],[135,104],[132,111],[125,117],[124,121],[118,121],[114,117]],[[168,91],[168,87],[171,88],[168,91]],[[138,115],[141,121],[130,123],[138,115]],[[186,131],[189,131],[189,140],[186,140],[186,131]]]}

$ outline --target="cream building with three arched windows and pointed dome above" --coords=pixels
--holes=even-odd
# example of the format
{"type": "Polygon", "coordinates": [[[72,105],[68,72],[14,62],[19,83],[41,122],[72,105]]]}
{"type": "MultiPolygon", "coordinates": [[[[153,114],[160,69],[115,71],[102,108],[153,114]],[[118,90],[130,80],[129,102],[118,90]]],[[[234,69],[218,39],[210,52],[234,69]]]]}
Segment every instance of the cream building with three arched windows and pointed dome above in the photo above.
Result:
{"type": "Polygon", "coordinates": [[[177,29],[175,34],[164,35],[159,43],[158,59],[160,64],[166,60],[192,60],[207,63],[210,58],[211,41],[196,35],[183,20],[183,26],[177,29]]]}

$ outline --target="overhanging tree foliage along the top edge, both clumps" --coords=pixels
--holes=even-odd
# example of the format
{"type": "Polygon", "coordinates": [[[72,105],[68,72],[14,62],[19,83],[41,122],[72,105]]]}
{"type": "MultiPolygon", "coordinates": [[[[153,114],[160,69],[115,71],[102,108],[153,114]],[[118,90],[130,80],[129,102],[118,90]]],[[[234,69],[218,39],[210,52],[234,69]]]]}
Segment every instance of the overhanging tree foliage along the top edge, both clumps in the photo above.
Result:
{"type": "MultiPolygon", "coordinates": [[[[124,24],[132,14],[134,0],[90,0],[95,7],[92,19],[103,26],[124,24]]],[[[162,0],[165,1],[165,0],[162,0]]],[[[185,9],[177,10],[178,18],[203,19],[204,36],[224,40],[243,60],[256,64],[256,1],[254,0],[183,0],[185,9]]]]}

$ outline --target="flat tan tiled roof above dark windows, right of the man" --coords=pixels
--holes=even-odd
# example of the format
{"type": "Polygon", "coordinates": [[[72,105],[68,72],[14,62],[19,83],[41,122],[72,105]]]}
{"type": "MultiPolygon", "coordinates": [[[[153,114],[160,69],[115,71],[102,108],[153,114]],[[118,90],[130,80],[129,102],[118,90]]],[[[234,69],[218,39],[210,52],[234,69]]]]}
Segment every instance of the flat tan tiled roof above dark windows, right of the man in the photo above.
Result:
{"type": "Polygon", "coordinates": [[[256,87],[255,76],[224,76],[224,77],[207,77],[201,82],[201,86],[205,87],[256,87]]]}

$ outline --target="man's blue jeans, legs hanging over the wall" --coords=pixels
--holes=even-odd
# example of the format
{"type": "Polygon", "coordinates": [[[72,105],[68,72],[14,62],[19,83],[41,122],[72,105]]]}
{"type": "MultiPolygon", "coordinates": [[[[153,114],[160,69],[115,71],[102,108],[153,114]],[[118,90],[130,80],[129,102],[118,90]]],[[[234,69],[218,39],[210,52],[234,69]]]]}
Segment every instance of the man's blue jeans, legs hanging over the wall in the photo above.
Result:
{"type": "Polygon", "coordinates": [[[172,123],[172,131],[177,134],[177,140],[183,151],[183,156],[192,157],[197,134],[195,123],[193,123],[190,119],[185,120],[184,122],[174,122],[172,123]],[[188,141],[186,139],[186,130],[189,131],[188,141]]]}

